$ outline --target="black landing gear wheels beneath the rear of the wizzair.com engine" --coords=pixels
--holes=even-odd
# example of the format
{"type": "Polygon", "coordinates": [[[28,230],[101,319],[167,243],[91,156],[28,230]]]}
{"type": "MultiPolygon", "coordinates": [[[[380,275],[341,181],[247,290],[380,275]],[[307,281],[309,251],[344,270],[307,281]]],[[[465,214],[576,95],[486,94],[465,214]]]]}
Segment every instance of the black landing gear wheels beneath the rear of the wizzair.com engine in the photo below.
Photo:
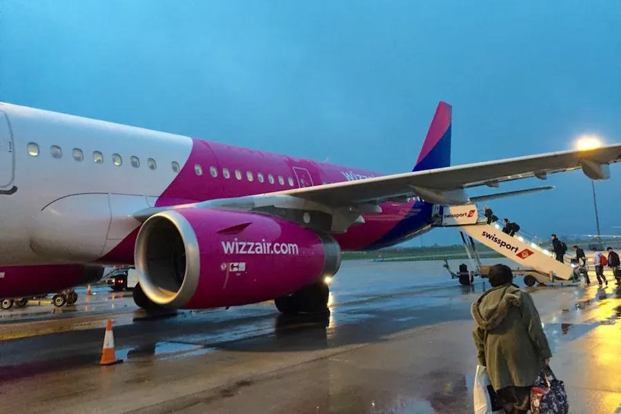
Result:
{"type": "Polygon", "coordinates": [[[324,282],[306,286],[290,295],[274,299],[276,308],[284,315],[311,313],[314,315],[329,315],[328,296],[330,288],[324,282]]]}

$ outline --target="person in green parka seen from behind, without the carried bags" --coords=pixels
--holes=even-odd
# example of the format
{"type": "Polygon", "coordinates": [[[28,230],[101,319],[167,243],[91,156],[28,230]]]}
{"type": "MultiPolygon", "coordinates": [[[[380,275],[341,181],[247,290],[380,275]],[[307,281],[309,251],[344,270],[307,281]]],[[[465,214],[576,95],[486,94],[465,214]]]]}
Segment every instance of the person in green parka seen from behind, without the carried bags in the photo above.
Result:
{"type": "Polygon", "coordinates": [[[511,268],[492,266],[489,283],[493,288],[471,308],[477,357],[504,411],[526,413],[531,388],[552,353],[535,302],[513,284],[511,268]]]}

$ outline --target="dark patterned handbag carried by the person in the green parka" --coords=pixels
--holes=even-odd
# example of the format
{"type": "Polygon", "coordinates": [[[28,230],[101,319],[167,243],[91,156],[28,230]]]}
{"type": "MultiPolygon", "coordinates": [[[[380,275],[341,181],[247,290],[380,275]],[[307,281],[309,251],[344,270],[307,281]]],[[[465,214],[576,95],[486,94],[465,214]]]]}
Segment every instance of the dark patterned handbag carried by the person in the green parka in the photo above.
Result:
{"type": "Polygon", "coordinates": [[[567,399],[565,384],[558,380],[549,366],[545,366],[540,371],[537,380],[535,380],[535,385],[531,388],[531,413],[569,413],[569,400],[567,399]]]}

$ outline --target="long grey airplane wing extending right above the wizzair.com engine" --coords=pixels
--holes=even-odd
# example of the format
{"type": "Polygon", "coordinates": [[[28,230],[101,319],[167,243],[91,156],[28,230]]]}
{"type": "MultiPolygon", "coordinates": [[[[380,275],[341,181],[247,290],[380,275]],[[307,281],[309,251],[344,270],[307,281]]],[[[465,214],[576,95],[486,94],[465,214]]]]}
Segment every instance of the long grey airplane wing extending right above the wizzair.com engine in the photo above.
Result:
{"type": "Polygon", "coordinates": [[[212,199],[193,204],[146,208],[135,213],[135,219],[144,221],[160,211],[176,208],[232,208],[275,215],[306,225],[305,211],[319,214],[312,223],[319,223],[319,230],[342,233],[348,227],[364,223],[362,215],[381,213],[378,205],[382,201],[406,201],[407,197],[419,196],[435,204],[463,205],[499,197],[508,197],[553,187],[531,188],[484,197],[472,197],[465,193],[466,188],[476,186],[497,187],[504,181],[529,177],[545,179],[555,172],[582,169],[591,179],[609,178],[609,164],[621,160],[621,144],[604,146],[592,150],[569,150],[466,164],[432,170],[406,172],[343,181],[334,184],[294,188],[259,195],[212,199]],[[479,200],[480,199],[480,200],[479,200]],[[329,220],[321,215],[328,215],[329,220]],[[324,223],[327,227],[324,226],[324,223]]]}

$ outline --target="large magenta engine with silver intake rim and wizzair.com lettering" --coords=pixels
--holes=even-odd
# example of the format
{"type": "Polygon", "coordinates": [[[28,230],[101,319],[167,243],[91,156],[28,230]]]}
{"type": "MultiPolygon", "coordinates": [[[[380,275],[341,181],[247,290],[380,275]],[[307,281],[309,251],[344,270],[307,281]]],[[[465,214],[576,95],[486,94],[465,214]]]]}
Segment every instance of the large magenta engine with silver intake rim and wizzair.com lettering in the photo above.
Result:
{"type": "Polygon", "coordinates": [[[200,208],[149,217],[135,268],[146,296],[169,308],[262,302],[337,273],[340,246],[292,221],[200,208]]]}

